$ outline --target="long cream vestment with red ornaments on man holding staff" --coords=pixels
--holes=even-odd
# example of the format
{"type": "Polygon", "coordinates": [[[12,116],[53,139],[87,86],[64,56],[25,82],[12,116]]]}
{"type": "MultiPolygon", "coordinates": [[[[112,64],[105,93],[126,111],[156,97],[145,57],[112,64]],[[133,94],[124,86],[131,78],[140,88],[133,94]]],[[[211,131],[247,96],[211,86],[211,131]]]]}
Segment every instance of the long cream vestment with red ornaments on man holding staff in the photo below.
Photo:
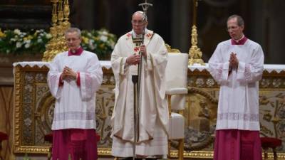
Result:
{"type": "MultiPolygon", "coordinates": [[[[111,63],[115,75],[115,107],[112,115],[113,156],[133,156],[134,85],[138,65],[125,63],[129,55],[138,54],[132,40],[133,31],[121,36],[113,50],[111,63]]],[[[147,57],[142,61],[140,85],[140,124],[136,154],[167,154],[168,107],[165,99],[167,49],[162,38],[145,30],[147,57]]]]}

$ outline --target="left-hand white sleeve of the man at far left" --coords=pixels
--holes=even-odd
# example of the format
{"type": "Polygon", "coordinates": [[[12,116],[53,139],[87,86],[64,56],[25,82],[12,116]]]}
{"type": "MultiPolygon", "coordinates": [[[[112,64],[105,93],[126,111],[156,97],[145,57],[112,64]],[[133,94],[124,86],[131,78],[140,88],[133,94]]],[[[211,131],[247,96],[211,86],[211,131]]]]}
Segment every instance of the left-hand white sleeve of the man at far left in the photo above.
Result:
{"type": "Polygon", "coordinates": [[[48,87],[51,91],[51,95],[56,99],[61,97],[61,87],[59,87],[59,79],[61,77],[61,71],[59,70],[59,57],[53,58],[50,63],[50,68],[48,71],[48,87]]]}

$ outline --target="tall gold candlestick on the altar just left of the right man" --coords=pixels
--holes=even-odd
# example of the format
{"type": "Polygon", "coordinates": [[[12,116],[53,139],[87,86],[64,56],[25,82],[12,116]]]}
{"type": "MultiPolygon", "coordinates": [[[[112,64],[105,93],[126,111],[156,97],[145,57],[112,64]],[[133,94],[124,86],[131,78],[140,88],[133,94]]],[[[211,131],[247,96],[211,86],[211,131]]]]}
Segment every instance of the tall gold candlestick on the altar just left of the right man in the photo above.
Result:
{"type": "Polygon", "coordinates": [[[197,33],[197,6],[198,1],[193,0],[193,25],[191,32],[191,48],[189,50],[189,65],[193,65],[195,63],[204,65],[204,61],[202,60],[202,51],[197,46],[198,43],[198,33],[197,33]]]}

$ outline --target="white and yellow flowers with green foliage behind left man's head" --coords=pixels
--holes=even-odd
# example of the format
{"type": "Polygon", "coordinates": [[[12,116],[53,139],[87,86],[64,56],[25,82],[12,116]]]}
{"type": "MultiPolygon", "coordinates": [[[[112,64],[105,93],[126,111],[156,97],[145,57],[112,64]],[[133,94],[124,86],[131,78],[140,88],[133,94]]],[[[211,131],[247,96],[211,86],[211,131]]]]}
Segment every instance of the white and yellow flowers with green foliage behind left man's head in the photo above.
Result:
{"type": "MultiPolygon", "coordinates": [[[[0,54],[43,54],[51,34],[44,30],[20,31],[0,28],[0,54]]],[[[98,58],[110,58],[117,38],[105,29],[98,31],[82,31],[81,46],[98,55],[98,58]]]]}

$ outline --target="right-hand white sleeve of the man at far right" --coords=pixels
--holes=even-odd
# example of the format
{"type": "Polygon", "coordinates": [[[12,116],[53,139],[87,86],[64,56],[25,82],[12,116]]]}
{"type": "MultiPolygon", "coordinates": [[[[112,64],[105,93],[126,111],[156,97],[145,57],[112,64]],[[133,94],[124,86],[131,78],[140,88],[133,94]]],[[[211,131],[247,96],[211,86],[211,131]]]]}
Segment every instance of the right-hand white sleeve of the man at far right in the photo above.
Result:
{"type": "Polygon", "coordinates": [[[261,46],[254,48],[249,63],[239,62],[237,80],[239,82],[257,82],[261,80],[264,65],[264,53],[261,46]]]}

